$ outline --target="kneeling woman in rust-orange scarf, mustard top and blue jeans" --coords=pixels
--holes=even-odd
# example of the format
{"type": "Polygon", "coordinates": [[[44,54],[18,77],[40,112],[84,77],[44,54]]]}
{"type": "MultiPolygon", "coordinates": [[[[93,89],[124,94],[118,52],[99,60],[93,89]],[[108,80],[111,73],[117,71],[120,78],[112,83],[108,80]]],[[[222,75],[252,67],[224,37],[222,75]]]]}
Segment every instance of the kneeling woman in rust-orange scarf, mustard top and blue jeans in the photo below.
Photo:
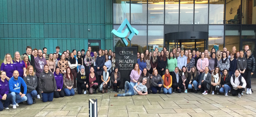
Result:
{"type": "Polygon", "coordinates": [[[172,84],[173,78],[170,75],[169,69],[165,70],[165,74],[163,75],[163,93],[164,94],[172,94],[172,84]]]}

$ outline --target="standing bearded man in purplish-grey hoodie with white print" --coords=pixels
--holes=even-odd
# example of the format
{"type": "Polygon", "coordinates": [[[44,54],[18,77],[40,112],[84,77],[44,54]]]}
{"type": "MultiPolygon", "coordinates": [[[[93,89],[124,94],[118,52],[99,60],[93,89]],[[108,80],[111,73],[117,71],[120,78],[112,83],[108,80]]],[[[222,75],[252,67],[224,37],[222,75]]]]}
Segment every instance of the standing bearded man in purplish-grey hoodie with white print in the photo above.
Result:
{"type": "MultiPolygon", "coordinates": [[[[35,58],[35,69],[36,69],[36,76],[37,79],[39,78],[40,73],[43,71],[43,66],[47,64],[46,59],[43,57],[43,52],[42,50],[38,50],[38,56],[35,58]]],[[[39,92],[38,87],[36,87],[37,91],[37,98],[39,99],[41,96],[41,93],[39,92]],[[40,97],[39,97],[40,96],[40,97]]]]}

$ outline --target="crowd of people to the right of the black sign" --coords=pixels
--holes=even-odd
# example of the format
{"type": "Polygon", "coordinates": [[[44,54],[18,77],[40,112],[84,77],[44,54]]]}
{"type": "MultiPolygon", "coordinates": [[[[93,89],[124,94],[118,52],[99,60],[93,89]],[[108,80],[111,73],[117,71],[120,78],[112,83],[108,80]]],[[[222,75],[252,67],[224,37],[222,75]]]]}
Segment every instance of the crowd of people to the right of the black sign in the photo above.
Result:
{"type": "Polygon", "coordinates": [[[125,82],[125,93],[114,96],[131,96],[161,93],[187,93],[203,95],[222,93],[241,97],[252,94],[250,79],[255,70],[255,58],[248,45],[244,51],[223,51],[212,48],[204,52],[163,47],[161,52],[146,50],[137,53],[137,64],[130,74],[130,82],[125,82]],[[132,88],[133,87],[133,88],[132,88]],[[246,89],[245,89],[246,88],[246,89]],[[128,91],[132,89],[133,91],[128,91]]]}

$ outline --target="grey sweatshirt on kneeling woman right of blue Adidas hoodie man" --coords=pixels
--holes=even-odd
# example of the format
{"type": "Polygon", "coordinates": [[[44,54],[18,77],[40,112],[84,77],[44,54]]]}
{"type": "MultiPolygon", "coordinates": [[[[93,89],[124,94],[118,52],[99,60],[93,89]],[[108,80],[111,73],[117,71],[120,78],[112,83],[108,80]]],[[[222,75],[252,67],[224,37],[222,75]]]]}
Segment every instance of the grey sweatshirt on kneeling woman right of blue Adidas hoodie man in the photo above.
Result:
{"type": "Polygon", "coordinates": [[[30,93],[31,91],[36,89],[38,85],[38,79],[36,75],[34,76],[27,75],[27,77],[24,77],[23,80],[27,84],[27,93],[30,93]]]}

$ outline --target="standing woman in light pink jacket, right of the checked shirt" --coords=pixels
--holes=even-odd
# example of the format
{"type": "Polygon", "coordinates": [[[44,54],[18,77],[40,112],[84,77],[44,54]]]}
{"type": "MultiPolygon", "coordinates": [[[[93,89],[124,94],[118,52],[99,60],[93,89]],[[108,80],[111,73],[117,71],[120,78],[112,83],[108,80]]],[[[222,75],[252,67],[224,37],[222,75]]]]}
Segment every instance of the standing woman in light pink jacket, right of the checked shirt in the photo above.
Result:
{"type": "Polygon", "coordinates": [[[201,53],[201,59],[198,59],[196,68],[198,69],[199,78],[201,78],[202,73],[204,73],[204,69],[206,66],[209,66],[209,60],[208,58],[205,58],[205,54],[201,53]]]}

